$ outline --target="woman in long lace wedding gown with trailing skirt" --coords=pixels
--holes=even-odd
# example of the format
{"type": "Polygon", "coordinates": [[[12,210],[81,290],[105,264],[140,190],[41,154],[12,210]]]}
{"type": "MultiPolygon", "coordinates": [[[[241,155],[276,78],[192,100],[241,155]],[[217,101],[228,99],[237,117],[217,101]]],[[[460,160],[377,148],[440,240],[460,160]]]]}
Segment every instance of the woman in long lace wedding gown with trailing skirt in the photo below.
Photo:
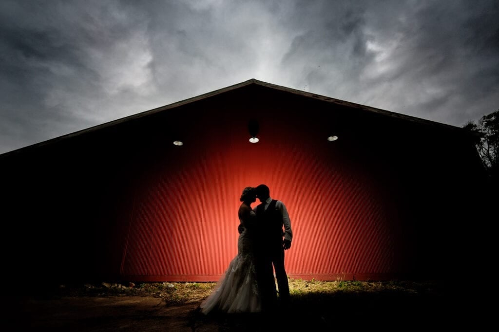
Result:
{"type": "Polygon", "coordinates": [[[243,190],[239,207],[238,254],[231,261],[225,275],[219,280],[213,292],[200,305],[201,312],[254,313],[261,311],[258,285],[254,265],[254,223],[255,214],[251,203],[256,201],[254,187],[243,190]]]}

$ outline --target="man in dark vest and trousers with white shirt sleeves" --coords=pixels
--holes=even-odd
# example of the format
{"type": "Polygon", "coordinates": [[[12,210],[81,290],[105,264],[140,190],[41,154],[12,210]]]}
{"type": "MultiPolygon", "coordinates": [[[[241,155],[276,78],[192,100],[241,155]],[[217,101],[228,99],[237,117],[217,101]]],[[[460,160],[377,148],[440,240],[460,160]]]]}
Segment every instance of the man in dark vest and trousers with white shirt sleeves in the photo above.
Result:
{"type": "Polygon", "coordinates": [[[280,304],[287,306],[289,301],[289,285],[284,269],[284,250],[291,247],[293,233],[286,206],[280,200],[270,197],[268,186],[258,185],[256,197],[261,202],[253,208],[256,214],[258,239],[255,243],[256,274],[261,293],[262,311],[268,312],[274,309],[277,300],[275,279],[277,279],[280,304]],[[273,270],[275,270],[275,279],[273,270]]]}

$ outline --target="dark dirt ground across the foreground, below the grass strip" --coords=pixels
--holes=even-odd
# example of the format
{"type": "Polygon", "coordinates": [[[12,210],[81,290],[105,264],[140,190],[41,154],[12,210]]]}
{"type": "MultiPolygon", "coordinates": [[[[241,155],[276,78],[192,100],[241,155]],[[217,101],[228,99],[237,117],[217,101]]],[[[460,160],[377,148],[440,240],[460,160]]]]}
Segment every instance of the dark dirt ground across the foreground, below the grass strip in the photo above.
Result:
{"type": "Polygon", "coordinates": [[[447,290],[314,294],[271,315],[205,316],[199,301],[167,304],[152,296],[18,296],[2,299],[1,331],[338,331],[473,328],[481,316],[469,297],[447,290]],[[466,299],[466,300],[465,300],[466,299]]]}

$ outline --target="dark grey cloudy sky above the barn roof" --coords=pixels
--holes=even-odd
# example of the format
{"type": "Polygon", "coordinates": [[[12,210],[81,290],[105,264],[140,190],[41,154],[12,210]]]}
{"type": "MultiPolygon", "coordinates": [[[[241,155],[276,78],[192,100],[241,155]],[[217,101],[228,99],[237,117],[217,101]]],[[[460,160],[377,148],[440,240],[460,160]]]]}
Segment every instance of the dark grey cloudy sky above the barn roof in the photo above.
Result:
{"type": "Polygon", "coordinates": [[[497,0],[1,0],[0,154],[255,78],[461,127],[497,0]]]}

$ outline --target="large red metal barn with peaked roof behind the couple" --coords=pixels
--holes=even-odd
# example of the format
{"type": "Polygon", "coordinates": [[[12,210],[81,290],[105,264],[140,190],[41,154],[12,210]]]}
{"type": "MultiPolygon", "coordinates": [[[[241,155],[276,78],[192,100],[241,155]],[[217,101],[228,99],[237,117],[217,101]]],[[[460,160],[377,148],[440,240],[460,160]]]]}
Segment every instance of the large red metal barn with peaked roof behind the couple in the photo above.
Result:
{"type": "Polygon", "coordinates": [[[472,266],[481,203],[463,129],[255,79],[2,154],[0,170],[18,280],[217,281],[260,183],[290,215],[290,278],[448,278],[472,266]]]}

